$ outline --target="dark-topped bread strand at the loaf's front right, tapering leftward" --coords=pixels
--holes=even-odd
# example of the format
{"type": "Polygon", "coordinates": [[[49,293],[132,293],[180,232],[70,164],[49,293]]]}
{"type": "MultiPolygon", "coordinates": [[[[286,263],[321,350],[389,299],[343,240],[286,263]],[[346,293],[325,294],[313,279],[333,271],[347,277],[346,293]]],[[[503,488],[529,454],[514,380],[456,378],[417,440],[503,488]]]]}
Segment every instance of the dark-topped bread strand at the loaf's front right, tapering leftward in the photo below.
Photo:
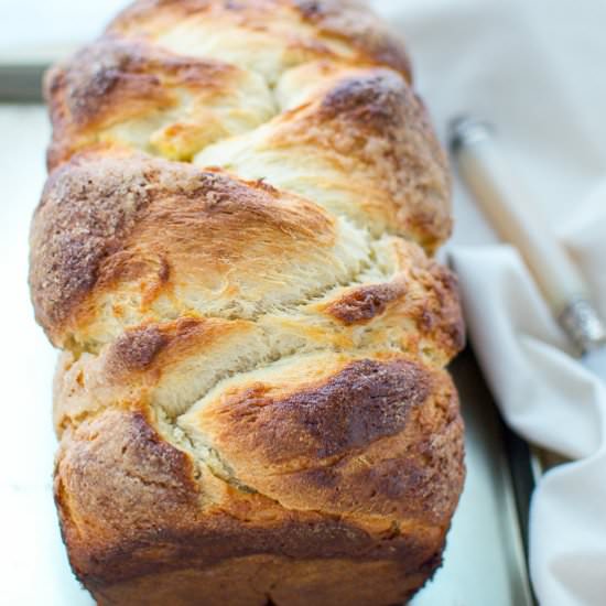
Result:
{"type": "Polygon", "coordinates": [[[219,452],[240,484],[285,507],[444,528],[463,465],[447,376],[402,357],[321,364],[320,378],[312,357],[282,365],[275,379],[225,386],[180,426],[219,452]]]}

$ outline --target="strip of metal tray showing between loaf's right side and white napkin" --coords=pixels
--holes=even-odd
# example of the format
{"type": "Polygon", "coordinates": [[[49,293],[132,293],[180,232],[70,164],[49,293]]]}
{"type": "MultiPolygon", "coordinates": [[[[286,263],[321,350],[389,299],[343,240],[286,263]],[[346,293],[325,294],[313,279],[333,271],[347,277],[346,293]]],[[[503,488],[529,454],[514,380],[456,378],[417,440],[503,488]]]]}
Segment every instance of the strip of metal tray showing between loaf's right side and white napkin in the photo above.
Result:
{"type": "Polygon", "coordinates": [[[533,606],[527,565],[530,448],[504,424],[470,347],[451,372],[465,421],[467,477],[444,565],[412,604],[533,606]]]}

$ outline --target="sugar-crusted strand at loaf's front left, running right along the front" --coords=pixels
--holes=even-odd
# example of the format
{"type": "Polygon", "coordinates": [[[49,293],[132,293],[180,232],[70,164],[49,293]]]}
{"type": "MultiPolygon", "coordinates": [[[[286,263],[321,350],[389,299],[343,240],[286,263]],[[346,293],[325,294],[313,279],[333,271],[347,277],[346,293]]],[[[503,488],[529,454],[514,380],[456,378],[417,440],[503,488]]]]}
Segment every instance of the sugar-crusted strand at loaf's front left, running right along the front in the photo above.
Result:
{"type": "Polygon", "coordinates": [[[57,455],[64,538],[76,573],[94,589],[256,553],[394,560],[404,575],[440,560],[445,527],[387,520],[369,531],[372,524],[360,528],[351,517],[284,508],[220,483],[150,423],[137,411],[102,412],[66,434],[57,455]]]}

